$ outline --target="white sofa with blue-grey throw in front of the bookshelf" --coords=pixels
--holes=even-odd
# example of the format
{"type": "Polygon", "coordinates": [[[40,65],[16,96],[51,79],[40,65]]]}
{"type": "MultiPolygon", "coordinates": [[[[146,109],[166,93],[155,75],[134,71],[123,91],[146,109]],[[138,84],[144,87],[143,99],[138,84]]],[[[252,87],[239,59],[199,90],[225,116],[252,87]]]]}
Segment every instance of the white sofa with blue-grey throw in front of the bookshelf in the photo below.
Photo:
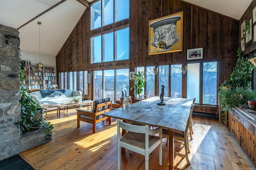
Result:
{"type": "Polygon", "coordinates": [[[70,102],[73,96],[81,96],[82,98],[82,92],[72,91],[70,89],[40,90],[31,92],[30,94],[34,101],[47,110],[57,109],[57,107],[48,106],[70,102]]]}

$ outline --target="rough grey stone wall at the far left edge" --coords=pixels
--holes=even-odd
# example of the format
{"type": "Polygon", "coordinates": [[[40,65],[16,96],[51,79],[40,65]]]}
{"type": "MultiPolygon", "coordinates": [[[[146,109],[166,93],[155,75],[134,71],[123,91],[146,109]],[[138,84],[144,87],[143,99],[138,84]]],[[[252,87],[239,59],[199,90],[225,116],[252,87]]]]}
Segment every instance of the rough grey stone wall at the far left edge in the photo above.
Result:
{"type": "Polygon", "coordinates": [[[18,153],[20,129],[19,31],[0,25],[0,160],[18,153]]]}

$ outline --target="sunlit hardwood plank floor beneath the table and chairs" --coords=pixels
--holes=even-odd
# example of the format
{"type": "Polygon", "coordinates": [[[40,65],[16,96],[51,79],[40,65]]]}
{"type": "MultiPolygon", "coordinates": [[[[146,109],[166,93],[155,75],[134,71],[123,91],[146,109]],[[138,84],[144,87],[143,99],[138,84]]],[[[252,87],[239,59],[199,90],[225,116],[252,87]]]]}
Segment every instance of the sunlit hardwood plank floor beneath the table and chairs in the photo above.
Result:
{"type": "MultiPolygon", "coordinates": [[[[76,110],[71,109],[57,118],[56,111],[48,112],[48,120],[54,124],[52,141],[21,152],[33,168],[38,170],[116,170],[117,169],[117,129],[116,120],[112,125],[97,124],[92,133],[92,124],[80,122],[76,126],[76,110]]],[[[192,117],[193,140],[189,138],[191,165],[194,170],[253,170],[248,159],[238,147],[229,129],[218,120],[192,117]]],[[[168,147],[163,139],[163,165],[158,164],[158,149],[150,155],[150,170],[168,169],[168,147]]],[[[178,152],[184,152],[182,145],[175,145],[178,152]]],[[[185,169],[186,159],[175,156],[176,170],[185,169]]],[[[144,170],[144,156],[126,150],[121,157],[122,170],[144,170]]]]}

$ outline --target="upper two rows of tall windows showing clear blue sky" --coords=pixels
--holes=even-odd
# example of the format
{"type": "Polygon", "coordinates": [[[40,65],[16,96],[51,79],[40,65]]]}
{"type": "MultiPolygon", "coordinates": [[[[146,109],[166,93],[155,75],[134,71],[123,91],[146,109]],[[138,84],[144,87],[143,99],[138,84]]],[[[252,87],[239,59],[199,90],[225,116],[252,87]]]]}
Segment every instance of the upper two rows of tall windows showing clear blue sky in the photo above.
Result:
{"type": "MultiPolygon", "coordinates": [[[[91,4],[91,29],[129,18],[129,0],[98,0],[91,4]]],[[[114,25],[115,30],[91,37],[91,63],[129,59],[129,27],[114,25]]]]}

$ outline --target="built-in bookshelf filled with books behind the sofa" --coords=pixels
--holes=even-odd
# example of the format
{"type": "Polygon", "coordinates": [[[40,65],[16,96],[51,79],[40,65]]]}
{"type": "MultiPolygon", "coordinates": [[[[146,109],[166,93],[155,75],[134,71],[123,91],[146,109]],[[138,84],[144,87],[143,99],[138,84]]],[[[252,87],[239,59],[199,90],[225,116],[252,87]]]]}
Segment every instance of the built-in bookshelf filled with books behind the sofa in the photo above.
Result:
{"type": "MultiPolygon", "coordinates": [[[[53,67],[24,67],[23,87],[28,90],[55,89],[56,84],[56,68],[53,67]]],[[[22,83],[21,83],[22,84],[22,83]]]]}

